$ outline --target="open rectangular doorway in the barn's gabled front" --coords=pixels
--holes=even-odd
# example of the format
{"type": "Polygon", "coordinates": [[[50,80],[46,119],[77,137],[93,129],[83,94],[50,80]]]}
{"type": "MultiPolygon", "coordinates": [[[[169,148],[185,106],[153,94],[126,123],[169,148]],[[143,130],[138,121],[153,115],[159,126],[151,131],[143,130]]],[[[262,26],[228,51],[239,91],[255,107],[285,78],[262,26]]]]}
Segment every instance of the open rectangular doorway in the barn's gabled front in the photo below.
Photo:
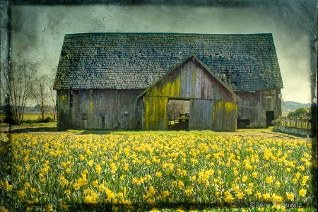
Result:
{"type": "Polygon", "coordinates": [[[167,130],[189,130],[190,100],[169,99],[167,103],[167,130]]]}

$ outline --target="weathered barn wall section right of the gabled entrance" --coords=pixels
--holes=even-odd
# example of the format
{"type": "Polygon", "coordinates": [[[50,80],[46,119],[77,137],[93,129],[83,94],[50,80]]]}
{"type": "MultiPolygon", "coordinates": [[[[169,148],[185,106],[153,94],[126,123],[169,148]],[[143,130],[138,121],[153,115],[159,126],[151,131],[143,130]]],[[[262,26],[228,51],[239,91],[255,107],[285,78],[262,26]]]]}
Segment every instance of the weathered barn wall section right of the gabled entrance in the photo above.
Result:
{"type": "Polygon", "coordinates": [[[275,119],[281,116],[280,89],[262,90],[255,93],[236,94],[242,99],[238,103],[238,119],[249,119],[250,128],[266,127],[266,111],[273,111],[275,119]]]}

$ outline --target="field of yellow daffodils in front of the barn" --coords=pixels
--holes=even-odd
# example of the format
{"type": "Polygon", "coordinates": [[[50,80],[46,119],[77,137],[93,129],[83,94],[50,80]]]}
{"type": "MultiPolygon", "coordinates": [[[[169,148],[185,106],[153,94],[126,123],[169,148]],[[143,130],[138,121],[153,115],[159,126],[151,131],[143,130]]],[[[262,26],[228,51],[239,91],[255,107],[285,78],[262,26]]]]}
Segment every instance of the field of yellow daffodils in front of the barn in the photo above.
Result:
{"type": "Polygon", "coordinates": [[[308,211],[316,204],[317,163],[305,141],[208,131],[10,139],[0,211],[308,211]]]}

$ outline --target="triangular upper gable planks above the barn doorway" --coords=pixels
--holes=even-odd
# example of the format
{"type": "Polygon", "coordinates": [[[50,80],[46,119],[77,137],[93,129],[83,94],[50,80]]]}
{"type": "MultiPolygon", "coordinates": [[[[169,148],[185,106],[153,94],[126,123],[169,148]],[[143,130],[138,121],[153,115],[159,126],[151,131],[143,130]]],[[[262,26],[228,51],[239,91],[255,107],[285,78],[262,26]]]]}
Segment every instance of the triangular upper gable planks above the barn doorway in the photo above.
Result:
{"type": "Polygon", "coordinates": [[[236,97],[195,59],[189,59],[155,83],[147,96],[230,100],[236,97]]]}

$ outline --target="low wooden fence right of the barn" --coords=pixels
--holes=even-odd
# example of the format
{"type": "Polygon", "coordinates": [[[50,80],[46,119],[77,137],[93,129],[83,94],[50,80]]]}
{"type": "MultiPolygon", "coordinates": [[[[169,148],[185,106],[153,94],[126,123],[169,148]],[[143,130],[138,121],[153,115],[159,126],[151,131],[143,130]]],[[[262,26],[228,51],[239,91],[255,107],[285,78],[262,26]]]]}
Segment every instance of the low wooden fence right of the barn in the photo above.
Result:
{"type": "Polygon", "coordinates": [[[287,126],[298,129],[312,129],[311,117],[281,117],[271,121],[273,126],[287,126]]]}

